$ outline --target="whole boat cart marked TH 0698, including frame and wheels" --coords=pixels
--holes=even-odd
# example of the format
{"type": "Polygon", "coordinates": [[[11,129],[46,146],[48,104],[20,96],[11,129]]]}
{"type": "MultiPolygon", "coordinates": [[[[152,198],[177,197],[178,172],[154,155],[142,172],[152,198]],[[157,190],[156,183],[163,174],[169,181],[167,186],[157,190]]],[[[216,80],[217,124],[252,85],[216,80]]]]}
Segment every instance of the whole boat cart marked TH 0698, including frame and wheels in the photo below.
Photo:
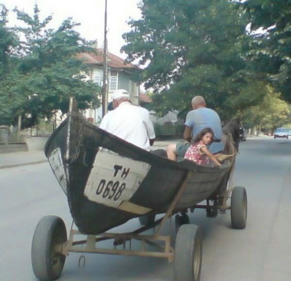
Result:
{"type": "MultiPolygon", "coordinates": [[[[174,262],[175,281],[199,281],[202,233],[189,224],[188,209],[204,208],[208,216],[216,216],[218,209],[222,213],[230,210],[233,228],[246,225],[246,190],[241,186],[232,190],[229,181],[236,155],[232,140],[238,149],[238,128],[236,122],[227,126],[225,153],[231,157],[220,167],[175,162],[86,122],[71,99],[69,116],[50,136],[45,153],[79,231],[72,224],[67,238],[62,218],[48,215],[40,219],[32,238],[35,276],[56,280],[69,252],[78,252],[165,258],[174,262]],[[198,204],[205,199],[206,205],[198,204]],[[165,215],[155,221],[160,213],[165,215]],[[161,234],[173,214],[177,214],[175,248],[171,233],[161,234]],[[145,226],[126,233],[105,232],[134,217],[145,226]],[[142,233],[158,224],[153,234],[142,233]],[[80,240],[80,235],[85,239],[80,240]],[[104,240],[113,240],[113,247],[100,245],[104,240]],[[140,242],[139,249],[131,248],[132,240],[140,242]]],[[[79,264],[84,259],[82,255],[79,264]]]]}

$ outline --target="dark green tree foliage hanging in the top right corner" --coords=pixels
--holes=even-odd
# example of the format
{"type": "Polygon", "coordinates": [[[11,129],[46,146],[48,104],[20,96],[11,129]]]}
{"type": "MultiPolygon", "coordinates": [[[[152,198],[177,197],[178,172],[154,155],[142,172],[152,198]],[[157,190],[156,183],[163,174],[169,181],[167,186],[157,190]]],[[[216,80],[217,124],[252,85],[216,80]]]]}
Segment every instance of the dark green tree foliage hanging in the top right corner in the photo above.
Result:
{"type": "Polygon", "coordinates": [[[256,71],[291,101],[291,0],[243,1],[253,34],[248,55],[256,71]],[[258,29],[263,31],[258,33],[258,29]]]}

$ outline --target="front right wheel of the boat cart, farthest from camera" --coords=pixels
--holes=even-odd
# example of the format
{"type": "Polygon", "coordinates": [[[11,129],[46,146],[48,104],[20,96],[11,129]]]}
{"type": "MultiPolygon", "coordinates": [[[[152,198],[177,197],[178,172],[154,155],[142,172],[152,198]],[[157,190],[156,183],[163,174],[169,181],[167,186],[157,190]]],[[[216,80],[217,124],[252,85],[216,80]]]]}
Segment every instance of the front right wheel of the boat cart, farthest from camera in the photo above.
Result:
{"type": "Polygon", "coordinates": [[[244,229],[247,218],[247,195],[242,186],[236,186],[231,193],[231,225],[234,229],[244,229]]]}

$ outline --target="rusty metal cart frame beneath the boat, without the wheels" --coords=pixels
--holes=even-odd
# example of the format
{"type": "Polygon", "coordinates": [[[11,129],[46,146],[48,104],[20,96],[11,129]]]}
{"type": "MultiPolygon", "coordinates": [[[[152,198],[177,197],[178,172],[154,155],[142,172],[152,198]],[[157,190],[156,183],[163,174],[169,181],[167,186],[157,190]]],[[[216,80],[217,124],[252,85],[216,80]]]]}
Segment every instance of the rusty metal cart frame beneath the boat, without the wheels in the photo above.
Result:
{"type": "MultiPolygon", "coordinates": [[[[125,255],[125,256],[144,256],[144,257],[155,257],[155,258],[166,258],[168,259],[169,263],[174,261],[175,249],[171,247],[171,235],[160,235],[162,228],[165,226],[165,223],[169,217],[174,215],[173,210],[181,197],[182,193],[185,190],[186,183],[193,175],[194,172],[189,171],[181,184],[178,193],[176,194],[175,198],[171,202],[167,212],[165,215],[158,219],[157,221],[148,224],[144,227],[141,227],[132,232],[126,233],[113,233],[113,232],[104,232],[98,235],[87,235],[83,234],[80,231],[73,229],[73,223],[71,226],[71,230],[69,232],[68,241],[66,241],[62,245],[57,245],[55,247],[55,251],[61,253],[63,255],[68,255],[69,252],[78,252],[78,253],[99,253],[99,254],[113,254],[113,255],[125,255]],[[142,235],[141,232],[144,232],[148,229],[157,227],[154,234],[152,235],[142,235]],[[85,235],[86,239],[84,240],[75,240],[75,236],[78,235],[85,235]],[[98,242],[104,240],[113,240],[113,247],[114,248],[98,248],[98,242]],[[139,250],[132,250],[131,249],[131,241],[132,240],[139,240],[141,241],[141,248],[139,250]],[[127,243],[129,242],[129,243],[127,243]],[[158,244],[157,242],[160,242],[158,244]],[[161,242],[164,245],[161,245],[161,242]],[[129,245],[128,245],[129,244],[129,245]],[[146,248],[146,244],[150,246],[154,246],[160,251],[152,251],[146,248]],[[80,247],[81,245],[85,245],[85,247],[80,247]],[[123,245],[122,249],[118,249],[117,246],[123,245]]],[[[232,176],[232,175],[230,175],[232,176]]],[[[227,188],[226,191],[220,198],[223,202],[221,206],[210,206],[207,205],[195,205],[194,208],[197,209],[221,209],[221,210],[228,210],[230,209],[229,206],[226,206],[226,201],[229,198],[229,194],[231,193],[232,188],[227,188]]],[[[194,210],[192,209],[192,211],[194,210]]]]}

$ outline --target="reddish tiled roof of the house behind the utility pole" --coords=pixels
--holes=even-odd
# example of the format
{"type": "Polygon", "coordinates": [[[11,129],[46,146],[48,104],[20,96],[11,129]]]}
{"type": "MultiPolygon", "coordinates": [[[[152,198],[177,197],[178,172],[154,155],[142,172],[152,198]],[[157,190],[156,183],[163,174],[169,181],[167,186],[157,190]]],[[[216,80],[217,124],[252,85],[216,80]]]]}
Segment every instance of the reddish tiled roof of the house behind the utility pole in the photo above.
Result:
{"type": "MultiPolygon", "coordinates": [[[[97,54],[92,52],[80,53],[78,54],[78,58],[84,60],[86,64],[103,65],[103,50],[97,49],[97,54]]],[[[108,66],[114,68],[138,69],[137,66],[125,63],[122,58],[115,56],[110,52],[108,52],[108,66]]]]}

